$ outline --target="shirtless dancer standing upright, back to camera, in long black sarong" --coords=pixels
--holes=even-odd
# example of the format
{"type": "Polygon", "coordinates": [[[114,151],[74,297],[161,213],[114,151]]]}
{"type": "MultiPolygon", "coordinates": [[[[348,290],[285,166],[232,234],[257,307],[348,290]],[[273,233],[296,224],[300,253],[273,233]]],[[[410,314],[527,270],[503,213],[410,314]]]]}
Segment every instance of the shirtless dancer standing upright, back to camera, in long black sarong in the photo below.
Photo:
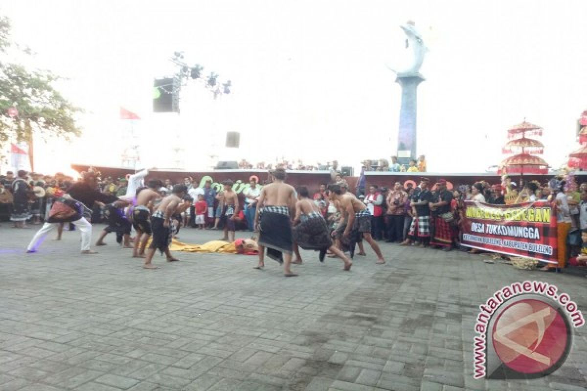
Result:
{"type": "Polygon", "coordinates": [[[285,254],[285,277],[295,277],[290,264],[292,260],[292,229],[289,218],[289,209],[294,206],[295,189],[284,183],[285,170],[276,169],[269,174],[273,183],[261,190],[257,212],[255,213],[255,227],[259,233],[259,264],[257,269],[265,267],[265,247],[267,256],[282,263],[282,253],[285,254]],[[260,217],[260,225],[259,223],[260,217]]]}

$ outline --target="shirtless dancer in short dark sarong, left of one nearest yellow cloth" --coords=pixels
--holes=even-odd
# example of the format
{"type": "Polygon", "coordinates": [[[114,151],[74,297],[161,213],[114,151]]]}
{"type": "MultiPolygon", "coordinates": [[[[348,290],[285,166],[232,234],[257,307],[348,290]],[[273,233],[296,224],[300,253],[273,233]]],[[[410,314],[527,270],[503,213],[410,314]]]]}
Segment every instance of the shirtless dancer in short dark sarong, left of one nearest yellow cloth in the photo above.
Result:
{"type": "Polygon", "coordinates": [[[134,239],[133,258],[144,258],[145,247],[151,237],[150,216],[153,214],[153,203],[161,198],[157,192],[161,185],[158,179],[151,179],[149,188],[137,193],[137,202],[133,210],[133,227],[137,232],[137,237],[134,239]]]}

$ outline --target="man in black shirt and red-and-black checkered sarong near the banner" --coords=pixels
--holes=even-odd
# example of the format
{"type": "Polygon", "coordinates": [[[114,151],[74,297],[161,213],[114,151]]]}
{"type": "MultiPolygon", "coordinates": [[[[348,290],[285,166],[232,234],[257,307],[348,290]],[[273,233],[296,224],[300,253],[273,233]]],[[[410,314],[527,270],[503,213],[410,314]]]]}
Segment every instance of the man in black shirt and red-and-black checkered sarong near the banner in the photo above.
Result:
{"type": "Polygon", "coordinates": [[[446,188],[446,180],[440,179],[437,185],[438,199],[430,203],[430,208],[434,213],[434,234],[430,244],[443,247],[444,251],[450,251],[454,239],[454,229],[451,225],[454,215],[450,206],[453,193],[446,188]]]}

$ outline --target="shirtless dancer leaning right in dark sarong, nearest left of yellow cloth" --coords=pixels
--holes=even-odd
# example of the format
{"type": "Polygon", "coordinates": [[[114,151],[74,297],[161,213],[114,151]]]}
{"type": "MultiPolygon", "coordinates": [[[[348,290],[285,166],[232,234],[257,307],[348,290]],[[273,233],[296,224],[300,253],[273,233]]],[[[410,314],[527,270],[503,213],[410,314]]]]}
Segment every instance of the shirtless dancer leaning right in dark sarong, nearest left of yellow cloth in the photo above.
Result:
{"type": "Polygon", "coordinates": [[[153,213],[153,216],[151,216],[153,240],[149,246],[149,251],[147,251],[147,257],[145,258],[145,263],[143,265],[144,268],[157,268],[157,266],[154,266],[151,263],[151,260],[155,254],[155,250],[160,250],[161,254],[165,253],[168,262],[178,261],[173,256],[171,256],[171,251],[169,251],[169,245],[171,244],[171,239],[173,237],[173,230],[171,228],[170,219],[171,216],[173,216],[173,214],[176,212],[178,206],[180,206],[180,203],[182,202],[181,199],[185,196],[186,193],[187,186],[174,186],[173,193],[161,201],[157,210],[155,213],[153,213]]]}

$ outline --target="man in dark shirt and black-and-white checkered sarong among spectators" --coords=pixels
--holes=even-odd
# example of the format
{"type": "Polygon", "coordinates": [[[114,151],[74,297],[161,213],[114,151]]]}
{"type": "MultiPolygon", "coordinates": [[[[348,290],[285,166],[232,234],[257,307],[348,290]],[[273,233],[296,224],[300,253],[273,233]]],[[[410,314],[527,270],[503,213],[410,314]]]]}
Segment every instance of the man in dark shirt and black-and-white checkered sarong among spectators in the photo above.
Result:
{"type": "Polygon", "coordinates": [[[409,246],[412,242],[419,242],[420,247],[427,247],[430,242],[430,206],[432,193],[429,190],[429,179],[422,178],[420,191],[414,192],[410,206],[413,208],[414,219],[410,225],[407,239],[401,246],[409,246]]]}

